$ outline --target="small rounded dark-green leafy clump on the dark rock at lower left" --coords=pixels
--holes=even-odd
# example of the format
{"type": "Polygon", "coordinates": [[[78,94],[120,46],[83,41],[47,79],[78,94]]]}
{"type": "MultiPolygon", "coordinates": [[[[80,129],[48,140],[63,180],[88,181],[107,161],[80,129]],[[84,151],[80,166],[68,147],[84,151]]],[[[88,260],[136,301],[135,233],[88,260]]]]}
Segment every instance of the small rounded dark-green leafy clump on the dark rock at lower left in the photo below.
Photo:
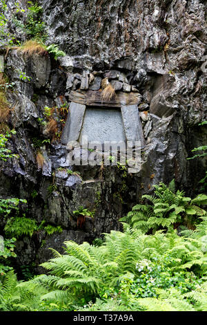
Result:
{"type": "Polygon", "coordinates": [[[23,235],[32,236],[34,231],[37,229],[37,221],[34,219],[28,219],[24,216],[12,217],[7,221],[4,228],[6,234],[10,234],[17,238],[23,235]]]}

